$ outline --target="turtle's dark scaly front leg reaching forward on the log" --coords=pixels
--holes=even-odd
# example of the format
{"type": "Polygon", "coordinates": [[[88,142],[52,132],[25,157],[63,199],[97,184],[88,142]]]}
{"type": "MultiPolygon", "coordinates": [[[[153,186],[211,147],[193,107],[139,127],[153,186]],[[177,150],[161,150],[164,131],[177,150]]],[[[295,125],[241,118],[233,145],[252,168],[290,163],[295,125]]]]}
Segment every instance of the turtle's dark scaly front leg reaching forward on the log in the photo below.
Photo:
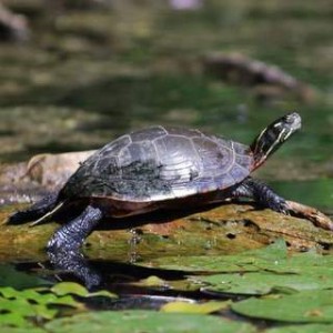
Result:
{"type": "Polygon", "coordinates": [[[269,185],[251,176],[232,190],[232,198],[249,198],[271,210],[289,214],[287,203],[269,185]]]}

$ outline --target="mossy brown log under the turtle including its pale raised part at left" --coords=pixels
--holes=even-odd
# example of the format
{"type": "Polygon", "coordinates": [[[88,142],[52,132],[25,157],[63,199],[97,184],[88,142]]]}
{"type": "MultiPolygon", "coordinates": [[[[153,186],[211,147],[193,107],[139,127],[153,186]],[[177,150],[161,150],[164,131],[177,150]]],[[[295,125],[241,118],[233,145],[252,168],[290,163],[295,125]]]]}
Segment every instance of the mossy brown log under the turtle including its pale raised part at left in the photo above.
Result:
{"type": "MultiPolygon", "coordinates": [[[[29,223],[8,225],[6,220],[19,208],[22,209],[18,202],[27,201],[23,193],[29,190],[36,194],[32,196],[38,198],[59,188],[79,162],[91,153],[38,155],[29,163],[2,167],[2,198],[8,195],[4,203],[16,204],[0,209],[1,262],[47,259],[44,246],[59,228],[57,223],[29,228],[29,223]],[[13,192],[18,194],[13,196],[13,192]]],[[[189,253],[228,254],[260,248],[278,238],[283,238],[292,250],[331,250],[333,245],[332,231],[316,228],[307,220],[261,210],[255,205],[225,203],[219,208],[208,206],[201,212],[161,211],[122,220],[110,219],[88,238],[83,251],[92,259],[132,261],[133,256],[147,260],[189,253]]]]}

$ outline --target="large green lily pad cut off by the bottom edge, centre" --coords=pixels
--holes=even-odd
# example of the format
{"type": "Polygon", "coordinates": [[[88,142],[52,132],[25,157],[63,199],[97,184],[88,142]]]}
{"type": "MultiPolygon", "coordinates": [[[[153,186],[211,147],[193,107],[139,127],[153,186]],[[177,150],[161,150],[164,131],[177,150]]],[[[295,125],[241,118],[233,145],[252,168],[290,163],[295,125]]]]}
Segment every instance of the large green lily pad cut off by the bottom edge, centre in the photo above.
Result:
{"type": "Polygon", "coordinates": [[[54,320],[46,325],[48,332],[52,333],[109,333],[114,327],[117,327],[117,333],[256,332],[250,324],[236,323],[221,317],[153,311],[91,312],[54,320]]]}

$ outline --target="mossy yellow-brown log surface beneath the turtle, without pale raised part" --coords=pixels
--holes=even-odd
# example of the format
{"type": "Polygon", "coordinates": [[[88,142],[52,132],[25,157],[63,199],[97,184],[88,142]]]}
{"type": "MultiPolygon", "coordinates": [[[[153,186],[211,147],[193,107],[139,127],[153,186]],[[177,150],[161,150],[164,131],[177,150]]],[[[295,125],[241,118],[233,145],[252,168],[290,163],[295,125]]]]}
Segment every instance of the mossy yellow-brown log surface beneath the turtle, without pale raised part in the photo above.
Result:
{"type": "MultiPolygon", "coordinates": [[[[58,224],[34,228],[29,223],[6,224],[9,213],[17,208],[0,212],[0,261],[47,259],[43,249],[58,224]]],[[[279,238],[297,251],[333,246],[332,232],[315,228],[307,220],[256,210],[248,204],[224,204],[182,215],[159,212],[105,221],[87,239],[83,251],[91,259],[132,261],[133,254],[149,260],[163,255],[235,253],[270,244],[279,238]]]]}

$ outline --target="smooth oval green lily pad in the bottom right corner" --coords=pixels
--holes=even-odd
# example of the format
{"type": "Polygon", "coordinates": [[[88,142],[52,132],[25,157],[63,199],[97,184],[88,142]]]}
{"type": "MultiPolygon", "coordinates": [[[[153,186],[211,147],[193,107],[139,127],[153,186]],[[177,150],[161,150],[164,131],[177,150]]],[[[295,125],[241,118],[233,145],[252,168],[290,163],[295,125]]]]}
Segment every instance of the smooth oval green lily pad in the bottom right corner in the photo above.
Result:
{"type": "Polygon", "coordinates": [[[239,314],[256,319],[295,323],[333,323],[333,290],[251,297],[233,303],[231,309],[239,314]]]}

